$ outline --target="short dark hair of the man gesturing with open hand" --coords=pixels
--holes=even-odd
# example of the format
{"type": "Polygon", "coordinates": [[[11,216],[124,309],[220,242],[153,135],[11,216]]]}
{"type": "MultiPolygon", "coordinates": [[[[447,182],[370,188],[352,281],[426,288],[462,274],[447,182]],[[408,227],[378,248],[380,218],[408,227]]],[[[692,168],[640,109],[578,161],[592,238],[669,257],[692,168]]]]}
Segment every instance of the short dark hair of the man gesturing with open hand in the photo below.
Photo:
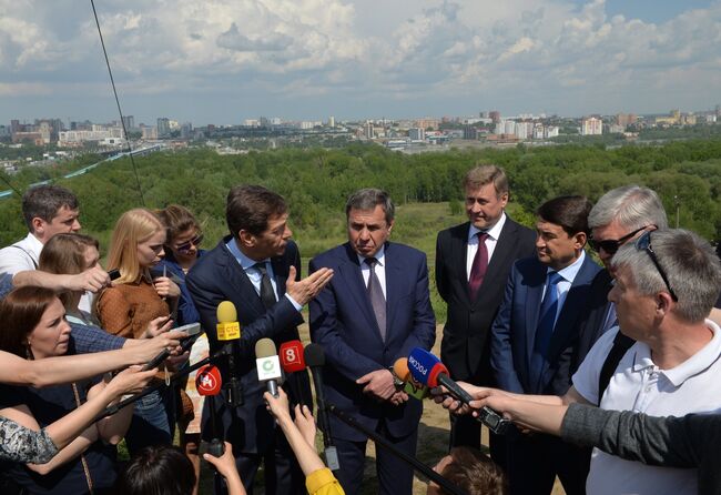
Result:
{"type": "Polygon", "coordinates": [[[242,230],[261,235],[267,229],[271,216],[287,211],[283,196],[262,185],[237,185],[227,193],[225,220],[234,238],[242,230]]]}

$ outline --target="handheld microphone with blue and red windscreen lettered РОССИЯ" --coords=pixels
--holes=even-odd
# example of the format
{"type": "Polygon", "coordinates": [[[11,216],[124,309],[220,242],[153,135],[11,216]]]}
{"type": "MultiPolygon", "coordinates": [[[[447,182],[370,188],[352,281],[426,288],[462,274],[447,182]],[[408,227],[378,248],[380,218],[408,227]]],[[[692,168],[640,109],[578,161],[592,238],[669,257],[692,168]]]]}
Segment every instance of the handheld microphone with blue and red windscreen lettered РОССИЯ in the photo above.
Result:
{"type": "MultiPolygon", "coordinates": [[[[423,347],[416,347],[410,351],[408,355],[408,370],[410,370],[410,374],[419,383],[431,388],[443,385],[448,390],[450,395],[464,404],[469,404],[474,400],[468,392],[463,390],[460,385],[448,376],[448,368],[440,360],[423,347]]],[[[506,433],[510,423],[508,420],[505,420],[488,406],[481,407],[478,413],[476,420],[488,426],[491,432],[498,435],[506,433]]]]}

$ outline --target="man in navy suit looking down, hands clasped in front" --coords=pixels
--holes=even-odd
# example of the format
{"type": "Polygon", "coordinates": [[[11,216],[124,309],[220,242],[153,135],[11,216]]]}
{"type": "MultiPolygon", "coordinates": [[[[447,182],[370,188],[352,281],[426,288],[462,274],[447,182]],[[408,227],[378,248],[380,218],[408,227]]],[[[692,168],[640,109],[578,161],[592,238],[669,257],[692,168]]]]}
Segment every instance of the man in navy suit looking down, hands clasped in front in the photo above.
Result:
{"type": "MultiPolygon", "coordinates": [[[[311,302],[311,337],[325,348],[325,396],[400,451],[414,455],[419,401],[394,384],[389,367],[414,347],[429,350],[436,325],[428,295],[426,255],[387,242],[394,224],[388,194],[357,191],[346,204],[348,242],[311,261],[311,272],[333,269],[331,283],[311,302]]],[[[367,437],[331,417],[346,494],[363,482],[367,437]]],[[[382,494],[413,492],[413,468],[376,449],[382,494]]]]}

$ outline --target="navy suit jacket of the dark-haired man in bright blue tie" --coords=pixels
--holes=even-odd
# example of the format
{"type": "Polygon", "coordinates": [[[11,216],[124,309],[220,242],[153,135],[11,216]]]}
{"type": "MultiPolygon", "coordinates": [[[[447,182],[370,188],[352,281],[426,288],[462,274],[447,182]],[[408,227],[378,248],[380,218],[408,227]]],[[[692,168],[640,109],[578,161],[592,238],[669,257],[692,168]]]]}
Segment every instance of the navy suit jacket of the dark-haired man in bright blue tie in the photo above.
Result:
{"type": "Polygon", "coordinates": [[[562,395],[568,391],[578,321],[599,270],[591,256],[586,256],[556,320],[539,385],[530,383],[530,363],[547,266],[535,256],[514,264],[490,335],[490,364],[500,388],[518,394],[562,395]]]}

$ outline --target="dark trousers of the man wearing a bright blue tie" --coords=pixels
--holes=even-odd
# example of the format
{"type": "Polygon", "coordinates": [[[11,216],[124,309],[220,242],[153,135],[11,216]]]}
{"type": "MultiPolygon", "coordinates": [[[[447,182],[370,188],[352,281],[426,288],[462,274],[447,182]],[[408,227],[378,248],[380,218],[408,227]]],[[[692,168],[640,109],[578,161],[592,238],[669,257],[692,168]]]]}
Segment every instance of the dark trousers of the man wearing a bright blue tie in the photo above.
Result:
{"type": "Polygon", "coordinates": [[[507,469],[510,495],[549,495],[558,475],[567,495],[585,495],[590,451],[542,434],[511,432],[507,469]]]}

